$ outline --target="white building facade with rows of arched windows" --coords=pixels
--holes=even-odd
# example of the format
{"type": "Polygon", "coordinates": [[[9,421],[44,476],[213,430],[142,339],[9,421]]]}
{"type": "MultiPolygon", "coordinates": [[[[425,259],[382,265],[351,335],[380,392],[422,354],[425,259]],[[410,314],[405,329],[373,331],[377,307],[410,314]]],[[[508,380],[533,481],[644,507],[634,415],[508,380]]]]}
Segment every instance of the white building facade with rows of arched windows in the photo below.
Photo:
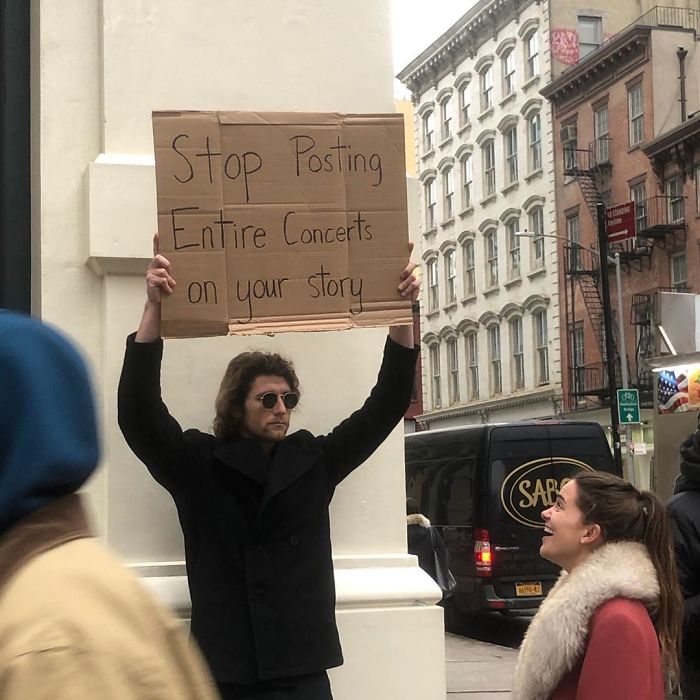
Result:
{"type": "Polygon", "coordinates": [[[548,38],[546,3],[482,0],[398,76],[416,109],[422,428],[560,409],[548,38]]]}

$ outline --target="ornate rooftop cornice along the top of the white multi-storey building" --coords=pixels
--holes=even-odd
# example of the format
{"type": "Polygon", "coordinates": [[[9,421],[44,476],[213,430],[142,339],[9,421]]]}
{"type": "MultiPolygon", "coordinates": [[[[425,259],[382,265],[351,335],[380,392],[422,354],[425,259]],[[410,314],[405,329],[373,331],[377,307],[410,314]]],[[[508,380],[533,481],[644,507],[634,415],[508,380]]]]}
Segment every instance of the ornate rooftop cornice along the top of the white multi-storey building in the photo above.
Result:
{"type": "Polygon", "coordinates": [[[521,12],[540,0],[480,0],[469,12],[438,37],[425,51],[397,74],[397,78],[416,95],[455,71],[467,57],[473,58],[488,39],[511,21],[518,21],[521,12]]]}

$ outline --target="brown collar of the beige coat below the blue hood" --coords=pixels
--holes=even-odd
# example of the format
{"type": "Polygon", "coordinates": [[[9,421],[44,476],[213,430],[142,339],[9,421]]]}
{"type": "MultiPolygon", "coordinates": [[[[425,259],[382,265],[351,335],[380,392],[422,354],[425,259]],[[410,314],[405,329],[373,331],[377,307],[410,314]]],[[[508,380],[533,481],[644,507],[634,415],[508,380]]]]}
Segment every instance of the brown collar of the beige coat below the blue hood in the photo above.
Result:
{"type": "Polygon", "coordinates": [[[71,494],[18,520],[0,539],[0,594],[27,562],[58,545],[91,537],[80,496],[71,494]]]}

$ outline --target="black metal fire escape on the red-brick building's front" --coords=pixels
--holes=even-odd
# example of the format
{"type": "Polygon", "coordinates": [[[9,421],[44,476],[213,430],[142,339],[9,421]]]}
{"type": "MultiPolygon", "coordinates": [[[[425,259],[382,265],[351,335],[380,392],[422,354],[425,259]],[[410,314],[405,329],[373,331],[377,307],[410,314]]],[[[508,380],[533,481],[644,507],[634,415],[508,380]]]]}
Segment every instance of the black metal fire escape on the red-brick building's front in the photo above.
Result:
{"type": "MultiPolygon", "coordinates": [[[[574,127],[575,128],[575,127],[574,127]]],[[[604,201],[602,192],[609,189],[612,173],[612,163],[607,158],[607,144],[601,148],[601,143],[590,144],[588,149],[578,149],[569,139],[566,143],[562,134],[564,146],[564,175],[575,178],[583,194],[588,211],[591,215],[594,230],[597,231],[596,203],[604,201]],[[606,187],[608,186],[608,187],[606,187]]],[[[575,139],[575,134],[574,134],[575,139]]],[[[609,202],[606,202],[609,205],[609,202]]],[[[632,270],[643,272],[651,268],[651,255],[654,246],[662,248],[678,248],[685,246],[685,219],[682,198],[663,195],[651,197],[635,205],[636,237],[622,243],[613,243],[603,251],[603,256],[577,244],[568,243],[565,247],[565,275],[569,284],[569,301],[566,308],[567,333],[570,345],[573,346],[573,332],[577,323],[582,319],[576,318],[575,291],[580,290],[586,314],[591,323],[601,361],[595,363],[580,362],[581,357],[575,349],[572,356],[569,390],[575,404],[584,399],[593,399],[600,403],[609,401],[607,365],[605,362],[605,325],[603,315],[603,299],[601,294],[601,264],[608,262],[615,253],[620,254],[620,267],[630,273],[632,270]]],[[[595,246],[597,248],[597,245],[595,246]]],[[[611,287],[614,289],[614,272],[610,271],[611,287]]],[[[651,289],[643,294],[636,294],[632,300],[631,323],[636,327],[635,367],[639,368],[640,361],[653,354],[651,334],[651,300],[655,291],[651,289]]],[[[685,291],[674,289],[667,291],[685,291]]],[[[616,309],[616,295],[612,293],[611,306],[616,309]]],[[[616,311],[613,311],[616,316],[616,311]]],[[[613,322],[613,348],[615,356],[615,382],[621,386],[620,338],[619,327],[613,322]]],[[[628,354],[628,366],[629,354],[628,354]]],[[[631,372],[632,373],[632,372],[631,372]]],[[[639,389],[640,402],[644,407],[653,405],[652,378],[648,373],[637,369],[636,376],[630,377],[630,385],[639,389]]]]}

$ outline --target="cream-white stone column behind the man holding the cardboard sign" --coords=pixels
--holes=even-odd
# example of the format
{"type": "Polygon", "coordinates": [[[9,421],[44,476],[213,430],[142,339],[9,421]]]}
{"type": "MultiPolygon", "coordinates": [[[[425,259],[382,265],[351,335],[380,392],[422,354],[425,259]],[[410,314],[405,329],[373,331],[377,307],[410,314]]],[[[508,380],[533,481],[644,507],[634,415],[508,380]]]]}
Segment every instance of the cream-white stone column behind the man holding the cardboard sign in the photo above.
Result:
{"type": "MultiPolygon", "coordinates": [[[[95,372],[105,449],[88,492],[100,532],[186,617],[174,507],[116,424],[156,228],[151,111],[393,111],[389,1],[33,0],[32,12],[35,309],[95,372]]],[[[323,432],[366,397],[385,335],[168,341],[164,396],[183,426],[207,430],[228,360],[279,349],[306,397],[292,428],[323,432]]],[[[439,593],[405,553],[402,442],[399,428],[333,502],[337,700],[445,697],[439,593]]]]}

